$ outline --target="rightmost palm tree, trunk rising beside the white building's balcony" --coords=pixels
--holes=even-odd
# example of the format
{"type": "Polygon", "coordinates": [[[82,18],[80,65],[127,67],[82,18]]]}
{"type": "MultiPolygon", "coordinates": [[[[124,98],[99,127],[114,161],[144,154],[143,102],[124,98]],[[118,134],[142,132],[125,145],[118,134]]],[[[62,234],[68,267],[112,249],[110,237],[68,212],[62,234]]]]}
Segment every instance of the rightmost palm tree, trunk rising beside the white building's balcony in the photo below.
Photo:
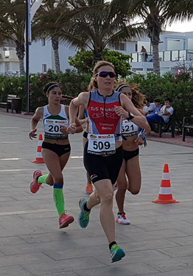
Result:
{"type": "MultiPolygon", "coordinates": [[[[173,0],[113,0],[112,4],[120,10],[125,10],[133,19],[139,20],[141,26],[145,26],[146,34],[150,38],[152,44],[153,70],[160,75],[159,62],[159,43],[160,34],[167,23],[172,23],[176,19],[185,19],[187,10],[185,10],[185,2],[192,0],[173,1],[173,0]],[[174,4],[175,2],[175,4],[174,4]],[[180,8],[179,8],[179,5],[180,8]],[[175,7],[175,9],[174,9],[175,7]],[[177,8],[176,8],[177,7],[177,8]],[[182,7],[184,7],[182,9],[182,7]]],[[[186,6],[187,7],[187,6],[186,6]]]]}

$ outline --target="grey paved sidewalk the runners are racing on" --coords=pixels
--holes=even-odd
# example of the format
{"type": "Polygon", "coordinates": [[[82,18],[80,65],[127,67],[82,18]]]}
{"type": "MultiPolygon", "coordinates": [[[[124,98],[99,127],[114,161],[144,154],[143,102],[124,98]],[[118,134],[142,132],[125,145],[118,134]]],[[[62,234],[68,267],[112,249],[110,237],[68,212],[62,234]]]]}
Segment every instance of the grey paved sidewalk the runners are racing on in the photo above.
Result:
{"type": "Polygon", "coordinates": [[[148,139],[148,147],[140,149],[141,192],[125,197],[131,224],[116,223],[116,241],[126,255],[111,264],[99,206],[93,208],[88,228],[77,222],[79,199],[88,197],[82,134],[70,136],[72,153],[63,171],[65,208],[74,222],[59,230],[52,187],[30,193],[34,170],[48,172],[45,164],[31,163],[38,141],[28,138],[30,120],[1,112],[0,118],[0,276],[193,275],[193,148],[148,139]],[[159,195],[165,163],[177,204],[152,203],[159,195]]]}

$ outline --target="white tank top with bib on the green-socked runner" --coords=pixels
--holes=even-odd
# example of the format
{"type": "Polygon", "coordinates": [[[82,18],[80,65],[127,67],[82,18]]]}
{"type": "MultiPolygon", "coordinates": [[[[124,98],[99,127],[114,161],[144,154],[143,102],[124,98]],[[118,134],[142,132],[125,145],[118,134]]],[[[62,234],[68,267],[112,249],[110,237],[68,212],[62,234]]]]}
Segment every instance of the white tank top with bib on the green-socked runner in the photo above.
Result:
{"type": "Polygon", "coordinates": [[[69,119],[65,113],[65,106],[61,104],[61,111],[58,115],[51,115],[48,106],[43,109],[43,128],[44,137],[47,139],[68,139],[68,135],[64,135],[60,129],[61,126],[69,126],[69,119]]]}

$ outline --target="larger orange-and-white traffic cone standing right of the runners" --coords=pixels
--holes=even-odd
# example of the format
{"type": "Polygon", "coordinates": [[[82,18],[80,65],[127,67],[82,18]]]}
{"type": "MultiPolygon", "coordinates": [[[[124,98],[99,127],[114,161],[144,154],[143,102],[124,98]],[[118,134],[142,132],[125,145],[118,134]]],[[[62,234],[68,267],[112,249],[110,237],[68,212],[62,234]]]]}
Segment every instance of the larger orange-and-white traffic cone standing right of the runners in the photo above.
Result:
{"type": "Polygon", "coordinates": [[[159,204],[170,204],[179,202],[172,197],[168,164],[165,164],[163,168],[163,176],[161,179],[161,187],[159,190],[158,199],[152,200],[152,202],[159,204]]]}

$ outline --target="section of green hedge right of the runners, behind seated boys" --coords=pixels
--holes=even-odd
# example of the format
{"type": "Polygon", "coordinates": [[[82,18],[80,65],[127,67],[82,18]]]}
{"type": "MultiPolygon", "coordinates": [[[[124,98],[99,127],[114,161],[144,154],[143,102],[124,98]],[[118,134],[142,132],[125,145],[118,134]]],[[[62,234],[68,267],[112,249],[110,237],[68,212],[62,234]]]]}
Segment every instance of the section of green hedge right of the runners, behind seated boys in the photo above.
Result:
{"type": "Polygon", "coordinates": [[[176,110],[176,128],[181,132],[183,117],[193,115],[193,80],[188,72],[181,70],[175,76],[167,72],[162,77],[154,73],[134,75],[128,81],[140,83],[141,91],[151,102],[160,98],[164,104],[165,98],[170,97],[176,110]]]}

